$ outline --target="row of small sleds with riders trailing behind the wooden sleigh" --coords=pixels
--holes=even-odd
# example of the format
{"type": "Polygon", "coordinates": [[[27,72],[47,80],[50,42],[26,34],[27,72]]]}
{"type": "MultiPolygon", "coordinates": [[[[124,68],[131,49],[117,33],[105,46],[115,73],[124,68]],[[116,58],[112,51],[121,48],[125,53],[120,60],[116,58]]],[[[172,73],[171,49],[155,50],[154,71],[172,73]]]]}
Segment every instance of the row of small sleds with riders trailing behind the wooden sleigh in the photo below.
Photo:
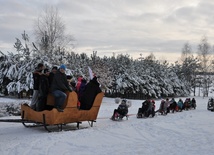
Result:
{"type": "MultiPolygon", "coordinates": [[[[128,108],[131,104],[127,104],[127,100],[122,99],[121,104],[117,109],[114,109],[111,120],[120,121],[124,117],[128,120],[128,108]]],[[[154,100],[147,99],[142,103],[142,107],[138,109],[136,114],[137,118],[152,118],[156,115],[167,115],[172,112],[181,112],[183,110],[196,109],[196,100],[194,98],[186,98],[183,102],[182,99],[179,99],[178,102],[172,98],[170,101],[167,98],[166,100],[161,100],[160,107],[155,111],[156,105],[154,100]]]]}

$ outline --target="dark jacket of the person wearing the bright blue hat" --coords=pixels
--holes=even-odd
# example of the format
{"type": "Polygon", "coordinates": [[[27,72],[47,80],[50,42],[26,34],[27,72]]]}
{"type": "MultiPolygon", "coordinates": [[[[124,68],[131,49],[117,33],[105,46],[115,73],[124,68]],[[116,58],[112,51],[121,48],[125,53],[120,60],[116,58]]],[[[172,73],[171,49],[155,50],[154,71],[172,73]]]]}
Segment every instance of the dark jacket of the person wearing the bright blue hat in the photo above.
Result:
{"type": "Polygon", "coordinates": [[[51,85],[51,92],[54,92],[56,90],[60,90],[63,92],[72,91],[68,85],[65,73],[62,73],[59,70],[57,70],[56,74],[54,75],[51,85]]]}

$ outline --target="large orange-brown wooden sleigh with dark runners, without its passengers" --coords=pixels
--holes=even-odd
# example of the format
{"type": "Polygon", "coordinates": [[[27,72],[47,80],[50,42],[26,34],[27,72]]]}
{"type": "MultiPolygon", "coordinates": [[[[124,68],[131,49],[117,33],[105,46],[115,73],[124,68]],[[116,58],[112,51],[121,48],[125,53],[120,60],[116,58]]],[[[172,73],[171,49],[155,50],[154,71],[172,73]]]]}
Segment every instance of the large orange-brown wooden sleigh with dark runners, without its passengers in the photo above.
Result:
{"type": "MultiPolygon", "coordinates": [[[[77,107],[78,97],[74,91],[67,93],[63,112],[58,112],[55,108],[52,110],[34,111],[27,104],[22,104],[20,122],[25,127],[43,126],[48,132],[56,131],[55,129],[52,130],[54,126],[57,126],[58,131],[62,131],[63,126],[66,126],[68,123],[77,123],[76,128],[79,129],[79,125],[83,121],[88,121],[92,127],[93,122],[96,122],[103,96],[103,92],[97,94],[90,110],[81,110],[77,107]]],[[[53,96],[48,95],[47,105],[54,105],[53,96]]],[[[5,122],[16,122],[16,120],[5,122]]]]}

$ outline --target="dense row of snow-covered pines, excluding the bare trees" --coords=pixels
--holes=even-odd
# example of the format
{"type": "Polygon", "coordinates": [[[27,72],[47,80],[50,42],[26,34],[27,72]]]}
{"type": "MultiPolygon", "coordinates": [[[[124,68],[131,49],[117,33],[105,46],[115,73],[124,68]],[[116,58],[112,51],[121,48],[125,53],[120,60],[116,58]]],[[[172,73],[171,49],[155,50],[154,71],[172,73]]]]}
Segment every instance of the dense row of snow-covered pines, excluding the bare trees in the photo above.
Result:
{"type": "Polygon", "coordinates": [[[38,63],[45,64],[49,69],[65,64],[68,68],[66,74],[71,75],[75,81],[80,75],[89,80],[89,66],[100,76],[98,80],[107,95],[158,98],[188,95],[191,91],[193,77],[190,80],[185,78],[186,71],[182,65],[169,65],[166,61],[160,63],[153,54],[133,60],[129,55],[123,54],[100,58],[96,51],[89,57],[85,53],[77,54],[53,48],[53,55],[50,56],[50,52],[41,52],[36,46],[30,50],[27,34],[24,32],[22,36],[24,44],[17,39],[14,46],[18,54],[0,55],[1,92],[7,90],[8,93],[17,94],[32,90],[32,72],[38,63]]]}

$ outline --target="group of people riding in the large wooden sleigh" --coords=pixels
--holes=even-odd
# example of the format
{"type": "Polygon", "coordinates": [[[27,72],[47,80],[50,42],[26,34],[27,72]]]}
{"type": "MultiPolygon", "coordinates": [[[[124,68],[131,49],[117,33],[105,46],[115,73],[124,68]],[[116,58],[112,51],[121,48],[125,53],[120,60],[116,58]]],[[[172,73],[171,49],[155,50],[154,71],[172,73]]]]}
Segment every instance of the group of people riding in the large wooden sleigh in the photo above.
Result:
{"type": "Polygon", "coordinates": [[[78,108],[89,110],[98,93],[101,92],[100,84],[97,76],[90,77],[86,81],[82,76],[78,78],[78,82],[71,82],[71,77],[65,74],[66,66],[62,64],[60,67],[54,66],[51,71],[45,68],[43,63],[39,63],[33,72],[34,90],[31,100],[31,108],[35,111],[52,110],[56,108],[59,112],[63,112],[63,104],[67,98],[66,92],[75,91],[78,95],[78,108]],[[48,106],[47,96],[52,94],[55,98],[54,107],[48,106]]]}

